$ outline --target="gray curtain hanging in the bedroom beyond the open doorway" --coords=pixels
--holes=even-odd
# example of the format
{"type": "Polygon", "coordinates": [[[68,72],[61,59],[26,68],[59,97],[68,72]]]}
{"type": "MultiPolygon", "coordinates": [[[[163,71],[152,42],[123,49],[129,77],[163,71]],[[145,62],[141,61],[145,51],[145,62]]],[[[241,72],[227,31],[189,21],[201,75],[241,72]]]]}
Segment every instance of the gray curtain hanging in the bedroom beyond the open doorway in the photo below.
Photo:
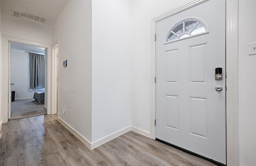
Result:
{"type": "Polygon", "coordinates": [[[44,55],[29,54],[29,88],[44,88],[44,55]]]}

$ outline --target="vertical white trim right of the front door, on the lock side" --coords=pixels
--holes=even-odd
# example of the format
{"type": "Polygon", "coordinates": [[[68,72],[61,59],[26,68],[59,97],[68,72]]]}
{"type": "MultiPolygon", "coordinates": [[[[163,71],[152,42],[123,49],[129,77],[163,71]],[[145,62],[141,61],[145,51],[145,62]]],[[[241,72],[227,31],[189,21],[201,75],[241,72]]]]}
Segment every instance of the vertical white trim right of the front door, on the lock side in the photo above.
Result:
{"type": "Polygon", "coordinates": [[[227,166],[238,166],[238,0],[226,0],[226,72],[227,166]]]}

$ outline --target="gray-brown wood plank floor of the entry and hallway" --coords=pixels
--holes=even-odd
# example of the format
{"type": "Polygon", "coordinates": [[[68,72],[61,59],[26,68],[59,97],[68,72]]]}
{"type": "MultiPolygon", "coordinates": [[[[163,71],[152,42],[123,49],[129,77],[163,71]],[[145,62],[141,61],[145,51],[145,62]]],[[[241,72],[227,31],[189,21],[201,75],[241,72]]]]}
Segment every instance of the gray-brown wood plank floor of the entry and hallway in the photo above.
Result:
{"type": "Polygon", "coordinates": [[[56,119],[41,115],[3,124],[0,166],[214,166],[132,131],[89,150],[56,119]]]}

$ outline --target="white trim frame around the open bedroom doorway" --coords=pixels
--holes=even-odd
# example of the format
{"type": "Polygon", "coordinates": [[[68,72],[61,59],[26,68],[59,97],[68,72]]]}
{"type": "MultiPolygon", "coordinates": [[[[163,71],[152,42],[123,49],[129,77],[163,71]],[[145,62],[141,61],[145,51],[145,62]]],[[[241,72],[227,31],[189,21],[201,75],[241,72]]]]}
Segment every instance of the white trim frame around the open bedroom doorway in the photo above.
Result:
{"type": "Polygon", "coordinates": [[[9,67],[11,66],[9,64],[10,62],[10,54],[9,54],[9,49],[8,45],[10,42],[16,42],[20,44],[27,44],[30,46],[37,46],[37,47],[42,47],[45,48],[45,57],[47,57],[46,60],[46,73],[45,73],[45,104],[44,106],[47,109],[47,114],[54,114],[54,58],[52,57],[52,46],[48,44],[42,44],[38,42],[33,42],[30,40],[24,40],[24,39],[19,39],[19,38],[14,38],[10,36],[4,36],[2,35],[2,61],[1,65],[4,70],[1,71],[1,93],[2,93],[2,98],[1,98],[1,109],[2,109],[2,123],[8,122],[8,113],[11,105],[8,103],[8,100],[11,100],[9,92],[10,91],[10,76],[9,76],[9,67]]]}

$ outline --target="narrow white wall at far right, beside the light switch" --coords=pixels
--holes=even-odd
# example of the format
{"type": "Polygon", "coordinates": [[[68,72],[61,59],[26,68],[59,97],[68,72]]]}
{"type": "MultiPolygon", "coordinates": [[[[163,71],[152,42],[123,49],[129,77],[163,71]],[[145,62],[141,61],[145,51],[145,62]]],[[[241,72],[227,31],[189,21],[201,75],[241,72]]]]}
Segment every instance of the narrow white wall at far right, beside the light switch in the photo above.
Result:
{"type": "Polygon", "coordinates": [[[256,55],[248,56],[248,43],[256,42],[256,1],[238,5],[239,160],[240,166],[255,166],[256,55]]]}

